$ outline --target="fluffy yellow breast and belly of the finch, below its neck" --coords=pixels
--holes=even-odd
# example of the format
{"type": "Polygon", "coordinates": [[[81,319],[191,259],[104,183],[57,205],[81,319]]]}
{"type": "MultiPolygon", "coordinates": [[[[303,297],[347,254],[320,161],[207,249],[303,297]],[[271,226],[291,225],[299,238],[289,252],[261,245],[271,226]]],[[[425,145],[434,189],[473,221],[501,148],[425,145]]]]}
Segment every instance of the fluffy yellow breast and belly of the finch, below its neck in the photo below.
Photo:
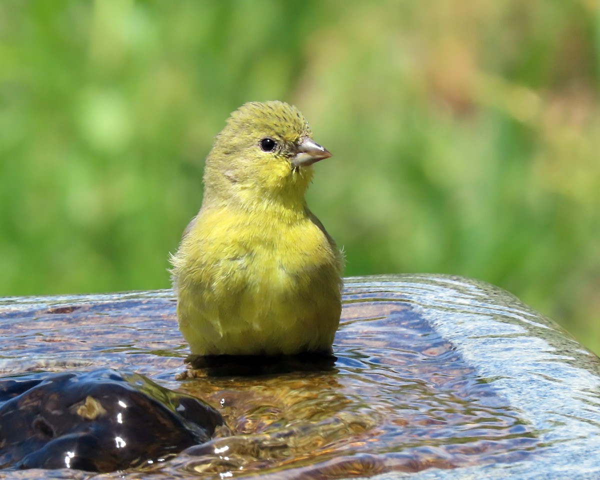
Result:
{"type": "Polygon", "coordinates": [[[331,347],[340,257],[308,211],[200,211],[174,274],[193,353],[291,354],[331,347]],[[275,219],[275,220],[274,220],[275,219]]]}

